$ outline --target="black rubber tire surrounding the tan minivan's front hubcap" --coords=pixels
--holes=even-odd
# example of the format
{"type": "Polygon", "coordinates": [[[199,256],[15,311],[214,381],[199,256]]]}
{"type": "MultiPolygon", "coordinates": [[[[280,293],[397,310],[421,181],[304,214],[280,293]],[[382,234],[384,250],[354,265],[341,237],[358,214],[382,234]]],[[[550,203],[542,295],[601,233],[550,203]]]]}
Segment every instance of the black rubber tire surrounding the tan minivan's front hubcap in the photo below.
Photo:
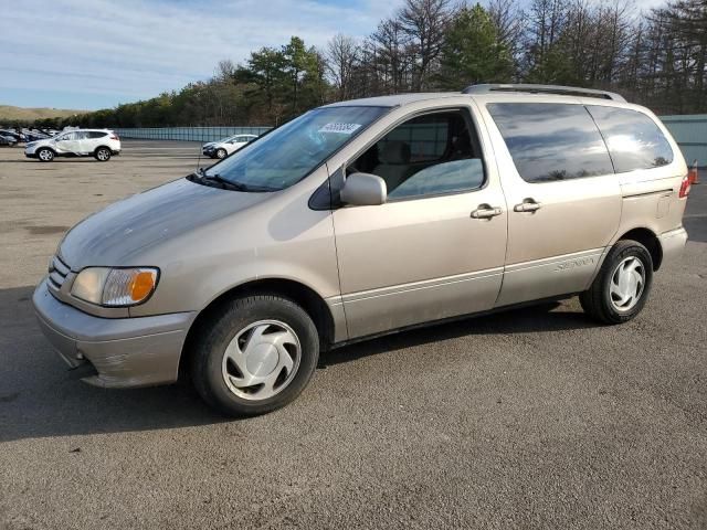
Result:
{"type": "Polygon", "coordinates": [[[312,318],[294,301],[276,295],[235,298],[197,330],[190,375],[199,395],[228,416],[265,414],[292,402],[309,382],[319,359],[319,335],[312,318]],[[286,386],[263,400],[244,399],[229,388],[223,373],[229,344],[244,329],[263,320],[287,325],[299,341],[298,367],[286,386]]]}

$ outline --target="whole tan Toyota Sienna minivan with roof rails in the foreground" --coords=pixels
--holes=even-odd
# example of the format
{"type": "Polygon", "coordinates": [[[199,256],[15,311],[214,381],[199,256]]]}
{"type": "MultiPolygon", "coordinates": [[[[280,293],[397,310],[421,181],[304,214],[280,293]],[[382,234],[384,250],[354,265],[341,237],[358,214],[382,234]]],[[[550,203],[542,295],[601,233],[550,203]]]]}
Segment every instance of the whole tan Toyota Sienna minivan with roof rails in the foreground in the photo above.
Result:
{"type": "Polygon", "coordinates": [[[80,222],[33,303],[91,384],[187,374],[219,411],[260,414],[363,338],[573,295],[631,320],[685,246],[688,192],[668,131],[616,94],[337,103],[80,222]]]}

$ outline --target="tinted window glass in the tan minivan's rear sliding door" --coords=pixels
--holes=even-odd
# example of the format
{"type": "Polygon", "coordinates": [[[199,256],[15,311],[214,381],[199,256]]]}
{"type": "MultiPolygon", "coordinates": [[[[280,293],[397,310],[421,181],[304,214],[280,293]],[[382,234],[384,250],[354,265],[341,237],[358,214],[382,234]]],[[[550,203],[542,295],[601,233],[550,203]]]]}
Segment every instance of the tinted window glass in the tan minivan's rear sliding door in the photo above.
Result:
{"type": "Polygon", "coordinates": [[[606,146],[582,105],[488,105],[520,177],[551,182],[614,172],[606,146]]]}

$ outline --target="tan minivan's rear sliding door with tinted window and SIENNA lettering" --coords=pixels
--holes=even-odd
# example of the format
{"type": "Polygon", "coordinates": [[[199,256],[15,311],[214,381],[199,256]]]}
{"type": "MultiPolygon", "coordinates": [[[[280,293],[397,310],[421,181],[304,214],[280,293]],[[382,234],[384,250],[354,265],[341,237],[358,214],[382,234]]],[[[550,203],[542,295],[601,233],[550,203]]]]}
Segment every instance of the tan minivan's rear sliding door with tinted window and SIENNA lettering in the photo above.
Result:
{"type": "Polygon", "coordinates": [[[508,209],[498,306],[587,289],[621,218],[619,179],[587,108],[516,102],[489,103],[485,115],[508,209]]]}

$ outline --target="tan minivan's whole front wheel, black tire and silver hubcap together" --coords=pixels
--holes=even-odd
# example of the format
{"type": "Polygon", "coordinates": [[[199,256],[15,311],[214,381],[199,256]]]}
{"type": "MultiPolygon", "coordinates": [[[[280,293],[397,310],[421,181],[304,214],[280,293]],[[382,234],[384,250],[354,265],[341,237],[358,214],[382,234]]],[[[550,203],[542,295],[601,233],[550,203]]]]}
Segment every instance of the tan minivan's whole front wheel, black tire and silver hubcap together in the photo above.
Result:
{"type": "Polygon", "coordinates": [[[293,401],[319,358],[312,318],[279,296],[236,298],[198,330],[191,379],[201,398],[230,416],[264,414],[293,401]]]}

